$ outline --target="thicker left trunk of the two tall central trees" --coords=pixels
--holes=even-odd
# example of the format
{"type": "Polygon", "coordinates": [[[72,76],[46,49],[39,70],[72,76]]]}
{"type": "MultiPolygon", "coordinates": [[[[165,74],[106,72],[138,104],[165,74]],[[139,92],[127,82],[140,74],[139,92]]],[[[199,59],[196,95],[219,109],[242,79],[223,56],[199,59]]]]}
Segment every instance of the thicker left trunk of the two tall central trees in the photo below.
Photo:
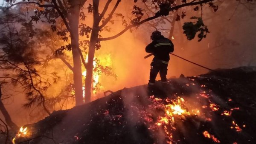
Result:
{"type": "Polygon", "coordinates": [[[79,0],[71,0],[70,16],[68,17],[71,33],[71,47],[73,55],[73,79],[75,85],[76,106],[84,103],[83,101],[83,84],[82,84],[82,69],[81,57],[79,54],[79,0]]]}

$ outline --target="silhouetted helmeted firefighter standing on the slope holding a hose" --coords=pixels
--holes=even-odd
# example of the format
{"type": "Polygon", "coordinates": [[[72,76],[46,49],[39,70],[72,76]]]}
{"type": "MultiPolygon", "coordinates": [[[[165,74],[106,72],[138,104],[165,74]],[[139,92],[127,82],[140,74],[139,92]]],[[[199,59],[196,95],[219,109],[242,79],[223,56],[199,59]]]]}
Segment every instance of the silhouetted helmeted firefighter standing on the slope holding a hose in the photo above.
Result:
{"type": "Polygon", "coordinates": [[[167,84],[167,67],[170,60],[169,53],[174,51],[174,45],[171,40],[163,37],[160,31],[153,31],[150,36],[152,42],[146,46],[145,51],[152,53],[154,58],[150,64],[150,76],[148,85],[154,85],[157,73],[160,73],[161,82],[167,84]]]}

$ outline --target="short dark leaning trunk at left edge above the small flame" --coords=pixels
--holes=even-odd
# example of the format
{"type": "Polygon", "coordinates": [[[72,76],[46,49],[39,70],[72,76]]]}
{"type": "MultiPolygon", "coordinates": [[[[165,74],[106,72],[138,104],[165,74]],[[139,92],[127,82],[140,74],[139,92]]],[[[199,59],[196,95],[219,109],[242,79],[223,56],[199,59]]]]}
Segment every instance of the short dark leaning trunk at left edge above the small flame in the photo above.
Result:
{"type": "Polygon", "coordinates": [[[1,98],[2,98],[2,91],[1,91],[1,85],[0,85],[0,111],[3,113],[5,121],[9,125],[9,127],[11,127],[12,129],[18,129],[18,126],[12,121],[11,116],[9,115],[6,108],[4,107],[1,98]]]}

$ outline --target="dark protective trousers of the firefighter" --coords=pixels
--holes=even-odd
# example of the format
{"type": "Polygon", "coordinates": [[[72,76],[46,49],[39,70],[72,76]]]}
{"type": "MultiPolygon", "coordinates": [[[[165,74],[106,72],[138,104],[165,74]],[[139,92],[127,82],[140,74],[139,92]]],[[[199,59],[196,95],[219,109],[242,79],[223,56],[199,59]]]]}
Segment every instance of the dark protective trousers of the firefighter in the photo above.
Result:
{"type": "Polygon", "coordinates": [[[150,76],[149,76],[149,85],[154,85],[157,77],[157,73],[160,73],[161,82],[166,82],[166,75],[167,75],[167,67],[168,63],[163,63],[161,60],[159,61],[152,61],[150,69],[150,76]]]}

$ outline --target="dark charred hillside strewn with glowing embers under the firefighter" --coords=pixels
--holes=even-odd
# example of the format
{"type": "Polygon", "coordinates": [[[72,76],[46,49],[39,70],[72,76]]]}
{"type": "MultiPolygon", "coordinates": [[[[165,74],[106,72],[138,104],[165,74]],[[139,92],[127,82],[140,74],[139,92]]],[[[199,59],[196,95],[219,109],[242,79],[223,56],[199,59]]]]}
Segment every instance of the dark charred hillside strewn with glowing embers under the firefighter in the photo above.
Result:
{"type": "Polygon", "coordinates": [[[15,142],[68,144],[253,144],[256,68],[218,70],[124,88],[27,125],[15,142]]]}

